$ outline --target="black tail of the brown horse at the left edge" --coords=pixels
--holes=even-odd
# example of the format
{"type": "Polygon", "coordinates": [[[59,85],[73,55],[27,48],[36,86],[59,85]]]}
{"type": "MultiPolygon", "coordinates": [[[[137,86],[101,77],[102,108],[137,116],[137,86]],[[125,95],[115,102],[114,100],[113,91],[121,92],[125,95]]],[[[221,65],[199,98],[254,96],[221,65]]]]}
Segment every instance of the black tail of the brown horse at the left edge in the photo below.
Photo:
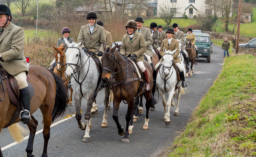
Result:
{"type": "Polygon", "coordinates": [[[63,80],[49,69],[48,71],[51,72],[56,83],[55,103],[52,110],[53,122],[56,118],[63,116],[63,114],[66,112],[69,95],[67,87],[64,85],[63,80]]]}

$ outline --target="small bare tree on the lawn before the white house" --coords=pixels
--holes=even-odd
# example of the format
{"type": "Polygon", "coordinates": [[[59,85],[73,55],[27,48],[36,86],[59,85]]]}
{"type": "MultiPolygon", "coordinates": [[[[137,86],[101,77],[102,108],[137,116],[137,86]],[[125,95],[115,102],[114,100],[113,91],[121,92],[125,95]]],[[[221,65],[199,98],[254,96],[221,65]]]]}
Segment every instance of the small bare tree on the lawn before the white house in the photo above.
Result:
{"type": "Polygon", "coordinates": [[[158,6],[158,16],[163,19],[167,25],[169,25],[172,18],[180,14],[180,12],[178,12],[179,9],[180,8],[178,8],[176,3],[171,3],[171,5],[168,5],[168,3],[165,2],[163,5],[158,6]]]}

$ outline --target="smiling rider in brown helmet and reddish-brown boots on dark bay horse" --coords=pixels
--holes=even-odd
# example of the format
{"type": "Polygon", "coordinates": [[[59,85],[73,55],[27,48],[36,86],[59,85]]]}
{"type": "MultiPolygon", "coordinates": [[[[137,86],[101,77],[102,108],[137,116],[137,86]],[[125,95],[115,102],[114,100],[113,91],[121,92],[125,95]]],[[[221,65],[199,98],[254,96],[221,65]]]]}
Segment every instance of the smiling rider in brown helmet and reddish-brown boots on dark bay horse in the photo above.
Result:
{"type": "Polygon", "coordinates": [[[126,23],[127,34],[123,36],[120,53],[124,58],[133,58],[133,61],[137,63],[140,70],[143,72],[145,79],[145,90],[150,90],[150,82],[148,77],[148,71],[144,66],[143,53],[146,51],[146,43],[142,34],[136,31],[137,23],[134,20],[130,20],[126,23]]]}

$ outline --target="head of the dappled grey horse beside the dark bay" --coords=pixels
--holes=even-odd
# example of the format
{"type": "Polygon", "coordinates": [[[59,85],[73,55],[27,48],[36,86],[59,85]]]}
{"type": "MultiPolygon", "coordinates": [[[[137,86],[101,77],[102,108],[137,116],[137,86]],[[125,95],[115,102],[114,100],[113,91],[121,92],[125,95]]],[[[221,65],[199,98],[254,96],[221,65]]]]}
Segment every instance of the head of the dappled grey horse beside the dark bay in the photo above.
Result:
{"type": "Polygon", "coordinates": [[[82,40],[80,43],[69,43],[67,40],[65,40],[66,45],[68,46],[66,50],[66,72],[65,76],[67,79],[71,79],[74,76],[74,70],[77,67],[80,67],[81,59],[83,58],[81,55],[84,55],[84,52],[81,49],[81,45],[84,44],[84,40],[82,40]]]}

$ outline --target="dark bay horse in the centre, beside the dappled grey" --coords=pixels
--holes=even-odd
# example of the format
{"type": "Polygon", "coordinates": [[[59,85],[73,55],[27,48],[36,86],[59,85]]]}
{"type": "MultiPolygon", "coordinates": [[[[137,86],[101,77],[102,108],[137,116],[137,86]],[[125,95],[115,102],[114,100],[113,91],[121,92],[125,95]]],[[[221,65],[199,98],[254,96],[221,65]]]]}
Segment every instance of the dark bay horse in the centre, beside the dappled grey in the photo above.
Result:
{"type": "MultiPolygon", "coordinates": [[[[112,92],[114,95],[113,100],[113,119],[116,122],[118,134],[123,136],[122,142],[129,143],[128,134],[132,134],[133,129],[133,120],[131,117],[134,115],[135,106],[134,106],[134,97],[140,95],[144,92],[146,98],[146,118],[143,125],[143,129],[148,129],[148,112],[149,108],[152,105],[157,103],[154,96],[151,94],[151,90],[143,91],[143,83],[140,82],[139,77],[132,62],[128,61],[122,56],[121,53],[116,51],[115,45],[113,48],[108,47],[106,49],[105,44],[103,44],[104,53],[101,58],[102,62],[102,81],[108,83],[109,81],[112,84],[112,92]],[[128,104],[127,113],[125,116],[126,119],[126,129],[121,126],[118,120],[118,109],[121,101],[125,104],[128,104]]],[[[148,70],[148,75],[150,78],[150,89],[153,87],[153,77],[152,77],[152,67],[148,62],[145,62],[145,68],[148,70]]],[[[143,76],[141,77],[143,78],[143,76]]]]}

